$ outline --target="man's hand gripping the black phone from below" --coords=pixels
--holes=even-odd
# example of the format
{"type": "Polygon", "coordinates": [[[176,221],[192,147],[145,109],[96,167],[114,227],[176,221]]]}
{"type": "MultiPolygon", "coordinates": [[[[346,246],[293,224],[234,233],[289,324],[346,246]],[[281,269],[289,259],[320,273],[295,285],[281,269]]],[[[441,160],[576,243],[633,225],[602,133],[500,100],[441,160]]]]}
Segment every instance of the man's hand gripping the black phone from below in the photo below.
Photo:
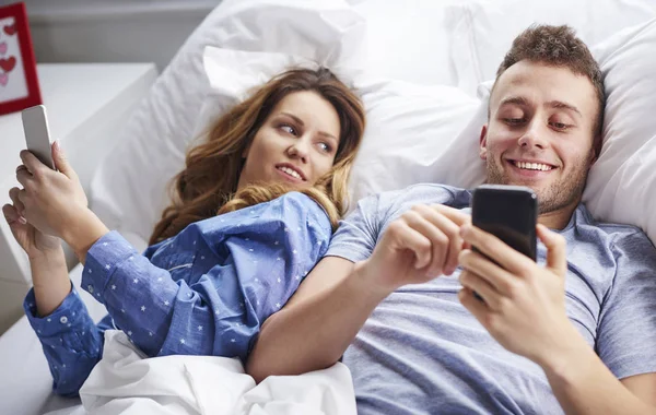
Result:
{"type": "Polygon", "coordinates": [[[565,239],[542,225],[537,232],[548,249],[546,268],[493,235],[462,227],[465,241],[488,258],[468,249],[460,253],[459,298],[502,346],[542,366],[576,329],[565,312],[565,239]]]}

